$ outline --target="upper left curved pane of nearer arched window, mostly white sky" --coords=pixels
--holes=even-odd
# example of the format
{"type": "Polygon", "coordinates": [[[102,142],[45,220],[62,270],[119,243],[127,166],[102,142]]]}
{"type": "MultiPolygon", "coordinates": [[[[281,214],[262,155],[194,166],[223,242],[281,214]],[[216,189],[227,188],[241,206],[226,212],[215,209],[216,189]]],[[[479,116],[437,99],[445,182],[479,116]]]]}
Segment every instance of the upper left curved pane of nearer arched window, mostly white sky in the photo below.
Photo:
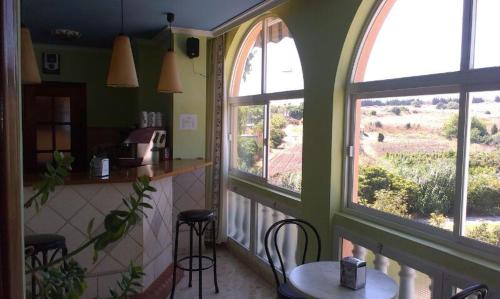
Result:
{"type": "Polygon", "coordinates": [[[460,69],[462,0],[387,1],[363,44],[355,81],[460,69]]]}

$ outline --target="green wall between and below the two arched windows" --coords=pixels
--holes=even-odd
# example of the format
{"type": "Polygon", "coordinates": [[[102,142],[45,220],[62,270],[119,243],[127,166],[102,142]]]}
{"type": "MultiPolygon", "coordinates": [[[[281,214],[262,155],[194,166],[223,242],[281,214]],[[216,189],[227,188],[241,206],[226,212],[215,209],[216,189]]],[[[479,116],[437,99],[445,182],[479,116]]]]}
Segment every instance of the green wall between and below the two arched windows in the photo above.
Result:
{"type": "MultiPolygon", "coordinates": [[[[456,243],[425,234],[408,235],[402,232],[404,227],[381,226],[342,209],[345,88],[356,42],[376,2],[293,0],[269,12],[282,18],[289,27],[302,62],[305,103],[301,201],[254,184],[233,183],[286,204],[313,223],[320,230],[324,259],[338,256],[339,248],[333,246],[334,228],[342,226],[456,273],[470,269],[468,273],[479,281],[495,285],[500,265],[488,261],[481,252],[460,250],[456,243]]],[[[248,21],[226,34],[227,83],[239,45],[253,22],[248,21]]]]}

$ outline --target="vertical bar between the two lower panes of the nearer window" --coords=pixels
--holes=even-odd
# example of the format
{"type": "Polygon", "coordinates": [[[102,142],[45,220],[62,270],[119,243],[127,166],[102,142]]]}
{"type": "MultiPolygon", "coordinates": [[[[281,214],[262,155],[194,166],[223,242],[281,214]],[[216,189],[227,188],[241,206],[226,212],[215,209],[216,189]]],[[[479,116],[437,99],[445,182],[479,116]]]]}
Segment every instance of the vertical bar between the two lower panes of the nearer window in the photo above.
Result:
{"type": "Polygon", "coordinates": [[[460,108],[457,132],[457,168],[455,181],[454,229],[455,237],[464,233],[467,213],[467,182],[469,169],[469,94],[460,92],[460,108]]]}

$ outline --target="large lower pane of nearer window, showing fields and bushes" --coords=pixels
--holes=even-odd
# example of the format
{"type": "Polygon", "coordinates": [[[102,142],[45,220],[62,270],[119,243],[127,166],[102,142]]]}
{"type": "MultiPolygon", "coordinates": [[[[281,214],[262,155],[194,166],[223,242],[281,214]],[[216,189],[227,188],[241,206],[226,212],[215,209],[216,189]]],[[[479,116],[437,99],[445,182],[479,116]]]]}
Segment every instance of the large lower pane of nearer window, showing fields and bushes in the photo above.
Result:
{"type": "Polygon", "coordinates": [[[353,201],[452,230],[458,97],[358,100],[353,201]]]}

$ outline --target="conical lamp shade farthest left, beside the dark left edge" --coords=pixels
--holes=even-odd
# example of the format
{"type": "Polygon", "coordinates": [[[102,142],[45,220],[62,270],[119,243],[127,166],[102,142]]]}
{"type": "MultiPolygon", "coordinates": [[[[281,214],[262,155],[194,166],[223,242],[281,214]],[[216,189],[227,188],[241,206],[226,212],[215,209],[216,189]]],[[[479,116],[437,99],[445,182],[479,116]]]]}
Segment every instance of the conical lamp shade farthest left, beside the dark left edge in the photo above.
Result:
{"type": "Polygon", "coordinates": [[[28,27],[21,27],[21,81],[23,84],[40,84],[40,72],[28,27]]]}

